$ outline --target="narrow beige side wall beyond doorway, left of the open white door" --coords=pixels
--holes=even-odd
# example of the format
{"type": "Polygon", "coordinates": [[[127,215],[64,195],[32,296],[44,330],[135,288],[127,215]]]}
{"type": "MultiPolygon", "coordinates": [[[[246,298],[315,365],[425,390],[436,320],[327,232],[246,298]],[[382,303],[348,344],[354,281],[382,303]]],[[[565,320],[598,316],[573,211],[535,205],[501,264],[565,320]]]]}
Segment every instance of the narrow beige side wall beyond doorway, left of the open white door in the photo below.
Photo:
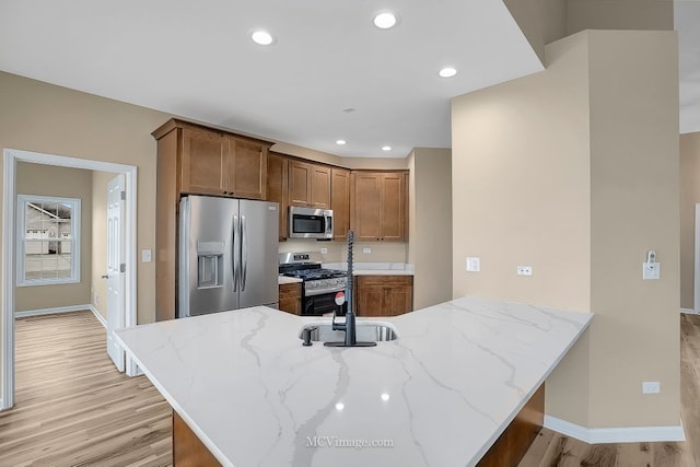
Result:
{"type": "Polygon", "coordinates": [[[90,300],[100,314],[107,318],[107,184],[116,174],[92,173],[92,281],[90,300]]]}

